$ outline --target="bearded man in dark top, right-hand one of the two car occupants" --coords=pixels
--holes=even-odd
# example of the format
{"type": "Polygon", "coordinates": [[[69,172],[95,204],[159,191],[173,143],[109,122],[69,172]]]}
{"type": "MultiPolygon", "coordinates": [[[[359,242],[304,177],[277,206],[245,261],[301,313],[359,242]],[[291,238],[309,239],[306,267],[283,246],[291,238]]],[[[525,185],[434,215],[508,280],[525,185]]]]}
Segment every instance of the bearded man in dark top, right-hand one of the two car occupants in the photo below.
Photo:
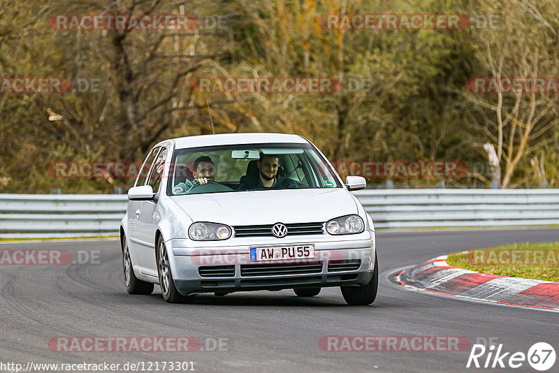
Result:
{"type": "Polygon", "coordinates": [[[256,166],[259,169],[259,176],[242,179],[239,190],[298,188],[298,182],[295,180],[289,177],[277,177],[277,170],[279,169],[278,156],[261,153],[256,166]]]}

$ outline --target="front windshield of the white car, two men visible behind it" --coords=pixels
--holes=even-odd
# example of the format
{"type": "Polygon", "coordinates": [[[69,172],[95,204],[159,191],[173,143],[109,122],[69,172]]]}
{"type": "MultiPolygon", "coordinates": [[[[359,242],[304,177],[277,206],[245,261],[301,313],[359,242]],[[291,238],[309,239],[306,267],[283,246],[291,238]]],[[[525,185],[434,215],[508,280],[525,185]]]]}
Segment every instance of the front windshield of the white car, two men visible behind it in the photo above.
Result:
{"type": "Polygon", "coordinates": [[[342,187],[335,171],[310,144],[175,149],[169,176],[169,196],[342,187]]]}

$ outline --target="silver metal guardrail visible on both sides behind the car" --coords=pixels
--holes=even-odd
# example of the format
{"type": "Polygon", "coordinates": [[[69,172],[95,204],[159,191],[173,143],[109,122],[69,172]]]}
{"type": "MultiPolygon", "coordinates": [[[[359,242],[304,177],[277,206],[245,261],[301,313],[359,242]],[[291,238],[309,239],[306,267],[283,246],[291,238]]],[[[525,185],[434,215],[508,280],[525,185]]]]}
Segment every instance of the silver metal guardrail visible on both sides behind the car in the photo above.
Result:
{"type": "MultiPolygon", "coordinates": [[[[376,228],[559,224],[559,189],[368,189],[376,228]]],[[[0,194],[0,238],[118,235],[125,195],[0,194]]]]}

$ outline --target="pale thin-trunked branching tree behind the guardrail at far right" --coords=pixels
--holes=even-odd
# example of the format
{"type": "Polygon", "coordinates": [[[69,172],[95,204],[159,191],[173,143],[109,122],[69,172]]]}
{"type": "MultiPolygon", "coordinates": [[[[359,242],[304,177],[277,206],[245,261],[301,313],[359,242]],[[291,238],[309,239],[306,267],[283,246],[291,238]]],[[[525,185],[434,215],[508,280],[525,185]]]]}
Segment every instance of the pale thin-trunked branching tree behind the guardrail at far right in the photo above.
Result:
{"type": "MultiPolygon", "coordinates": [[[[549,131],[559,124],[558,92],[534,89],[535,79],[559,76],[555,62],[559,24],[551,19],[554,3],[545,1],[537,7],[528,0],[516,0],[500,10],[486,1],[483,9],[487,13],[500,10],[502,27],[472,33],[479,73],[488,79],[481,78],[484,84],[472,80],[470,91],[463,92],[463,96],[475,109],[470,115],[470,128],[495,147],[503,168],[502,188],[514,185],[518,167],[529,166],[532,154],[553,141],[549,131]],[[523,78],[527,78],[528,87],[506,92],[508,82],[514,84],[523,78]],[[499,87],[501,84],[504,89],[499,87]]],[[[548,83],[546,80],[546,87],[548,83]]],[[[516,184],[526,181],[528,177],[516,184]]]]}

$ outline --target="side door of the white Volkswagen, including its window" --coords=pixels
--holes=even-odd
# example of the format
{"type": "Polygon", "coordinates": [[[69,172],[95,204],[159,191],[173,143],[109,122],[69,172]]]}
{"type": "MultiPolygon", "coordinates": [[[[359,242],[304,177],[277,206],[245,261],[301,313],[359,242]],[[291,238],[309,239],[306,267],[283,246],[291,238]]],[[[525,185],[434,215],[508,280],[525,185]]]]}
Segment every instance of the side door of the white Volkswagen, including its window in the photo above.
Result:
{"type": "MultiPolygon", "coordinates": [[[[163,177],[167,154],[167,148],[161,147],[161,151],[157,154],[150,170],[150,175],[147,178],[147,185],[152,186],[155,193],[163,193],[165,188],[165,186],[161,186],[161,178],[163,177]]],[[[138,263],[142,267],[141,272],[145,273],[145,275],[157,276],[155,231],[161,218],[160,215],[157,202],[152,200],[138,201],[135,221],[138,263]]]]}

